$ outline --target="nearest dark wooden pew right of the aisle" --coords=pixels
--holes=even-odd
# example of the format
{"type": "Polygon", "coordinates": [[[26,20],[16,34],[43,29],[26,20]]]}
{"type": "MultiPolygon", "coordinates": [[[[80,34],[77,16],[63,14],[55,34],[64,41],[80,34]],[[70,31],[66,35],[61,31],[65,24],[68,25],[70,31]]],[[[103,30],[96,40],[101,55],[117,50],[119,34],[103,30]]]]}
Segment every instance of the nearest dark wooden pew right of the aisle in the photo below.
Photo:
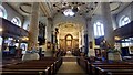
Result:
{"type": "Polygon", "coordinates": [[[93,75],[108,75],[108,73],[132,73],[133,65],[131,64],[105,64],[105,65],[92,65],[93,75]],[[122,69],[122,71],[121,71],[122,69]]]}

